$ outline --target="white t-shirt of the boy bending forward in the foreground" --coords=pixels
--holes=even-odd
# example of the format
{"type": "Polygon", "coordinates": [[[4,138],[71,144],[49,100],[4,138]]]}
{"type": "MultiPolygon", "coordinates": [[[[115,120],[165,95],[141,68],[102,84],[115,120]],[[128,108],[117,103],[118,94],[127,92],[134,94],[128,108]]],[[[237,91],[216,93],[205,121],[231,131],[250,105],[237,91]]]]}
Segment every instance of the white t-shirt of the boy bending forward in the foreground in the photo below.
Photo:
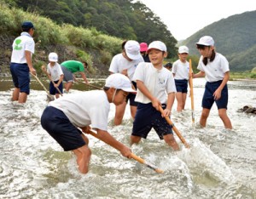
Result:
{"type": "Polygon", "coordinates": [[[67,94],[49,102],[49,105],[63,111],[76,127],[91,124],[92,128],[108,130],[110,104],[103,90],[67,94]]]}

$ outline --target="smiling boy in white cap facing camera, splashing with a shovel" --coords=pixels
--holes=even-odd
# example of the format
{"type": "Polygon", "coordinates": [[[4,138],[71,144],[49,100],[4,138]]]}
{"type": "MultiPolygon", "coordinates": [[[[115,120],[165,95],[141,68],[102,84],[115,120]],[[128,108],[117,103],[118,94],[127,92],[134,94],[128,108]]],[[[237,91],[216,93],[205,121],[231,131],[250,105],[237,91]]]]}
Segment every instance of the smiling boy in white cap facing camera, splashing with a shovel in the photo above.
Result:
{"type": "Polygon", "coordinates": [[[164,118],[171,115],[176,92],[172,72],[163,67],[163,60],[167,56],[166,44],[154,41],[149,44],[147,53],[151,63],[140,63],[133,78],[137,82],[135,100],[138,105],[131,145],[139,143],[142,138],[146,139],[151,128],[154,128],[160,139],[165,139],[177,151],[179,147],[173,137],[172,127],[164,118]],[[159,111],[159,105],[164,109],[163,115],[159,111]]]}

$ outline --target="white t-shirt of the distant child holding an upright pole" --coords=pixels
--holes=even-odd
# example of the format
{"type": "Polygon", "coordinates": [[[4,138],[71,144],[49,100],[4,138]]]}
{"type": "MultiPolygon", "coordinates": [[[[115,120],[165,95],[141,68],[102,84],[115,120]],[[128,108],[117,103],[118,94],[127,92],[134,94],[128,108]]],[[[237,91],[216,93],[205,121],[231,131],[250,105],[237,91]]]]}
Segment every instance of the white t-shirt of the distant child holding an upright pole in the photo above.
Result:
{"type": "Polygon", "coordinates": [[[172,73],[175,74],[174,79],[182,80],[189,79],[189,61],[183,63],[181,60],[177,60],[172,65],[172,73]]]}

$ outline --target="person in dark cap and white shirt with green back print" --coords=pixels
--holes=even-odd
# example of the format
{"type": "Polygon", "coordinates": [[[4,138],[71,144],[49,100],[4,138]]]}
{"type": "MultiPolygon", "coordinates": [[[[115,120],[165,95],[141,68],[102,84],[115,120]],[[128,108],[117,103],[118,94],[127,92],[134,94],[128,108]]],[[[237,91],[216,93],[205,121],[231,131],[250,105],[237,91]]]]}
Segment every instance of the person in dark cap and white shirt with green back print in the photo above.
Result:
{"type": "Polygon", "coordinates": [[[26,103],[27,95],[30,93],[30,75],[36,75],[32,66],[32,54],[35,52],[35,42],[32,38],[35,27],[31,21],[24,21],[21,25],[20,37],[15,38],[11,56],[10,72],[15,89],[12,100],[26,103]]]}

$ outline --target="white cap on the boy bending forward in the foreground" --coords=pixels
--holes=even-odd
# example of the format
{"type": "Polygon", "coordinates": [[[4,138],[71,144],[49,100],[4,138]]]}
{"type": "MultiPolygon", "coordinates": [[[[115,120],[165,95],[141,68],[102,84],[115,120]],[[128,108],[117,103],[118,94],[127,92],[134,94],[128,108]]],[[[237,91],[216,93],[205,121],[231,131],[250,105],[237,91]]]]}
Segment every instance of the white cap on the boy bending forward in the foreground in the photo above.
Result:
{"type": "Polygon", "coordinates": [[[114,73],[106,79],[105,87],[121,89],[128,93],[137,93],[131,88],[131,81],[128,77],[120,73],[114,73]]]}

